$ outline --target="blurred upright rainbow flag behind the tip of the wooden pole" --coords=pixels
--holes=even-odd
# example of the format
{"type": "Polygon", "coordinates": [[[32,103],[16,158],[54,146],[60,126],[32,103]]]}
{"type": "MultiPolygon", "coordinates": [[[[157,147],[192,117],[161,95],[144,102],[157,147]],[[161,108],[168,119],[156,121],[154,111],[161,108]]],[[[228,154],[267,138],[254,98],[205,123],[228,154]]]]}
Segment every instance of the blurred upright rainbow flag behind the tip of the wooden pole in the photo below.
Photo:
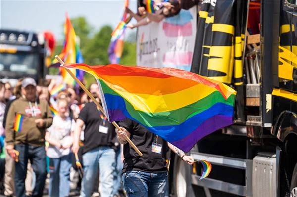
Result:
{"type": "MultiPolygon", "coordinates": [[[[65,34],[64,47],[59,57],[65,63],[83,63],[84,59],[79,49],[78,43],[76,42],[76,34],[67,14],[66,14],[66,21],[64,25],[64,34],[65,34]]],[[[54,62],[57,62],[57,60],[54,60],[54,62]]],[[[75,69],[71,69],[71,72],[75,74],[75,76],[80,81],[82,81],[82,79],[84,78],[83,71],[77,71],[75,69]]],[[[75,86],[76,84],[75,80],[62,67],[60,67],[60,74],[62,75],[63,81],[66,84],[75,86]]]]}

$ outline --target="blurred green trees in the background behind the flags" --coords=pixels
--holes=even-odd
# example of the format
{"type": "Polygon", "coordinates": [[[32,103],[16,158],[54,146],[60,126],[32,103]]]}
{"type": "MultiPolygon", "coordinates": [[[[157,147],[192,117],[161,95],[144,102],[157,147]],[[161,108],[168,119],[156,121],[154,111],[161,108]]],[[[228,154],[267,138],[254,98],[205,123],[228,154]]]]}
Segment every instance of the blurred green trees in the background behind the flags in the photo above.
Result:
{"type": "MultiPolygon", "coordinates": [[[[80,38],[80,49],[84,58],[84,62],[89,65],[107,65],[108,59],[108,46],[113,31],[110,25],[104,25],[99,31],[94,31],[94,28],[88,24],[86,18],[80,16],[71,19],[72,26],[77,36],[80,38]]],[[[136,32],[127,31],[128,33],[123,49],[123,55],[120,60],[122,65],[136,65],[136,32]]],[[[61,53],[64,40],[58,42],[54,55],[61,53]]],[[[53,56],[54,58],[54,56],[53,56]]],[[[49,74],[57,75],[58,68],[49,68],[49,74]]],[[[95,78],[86,73],[86,86],[88,87],[95,78]]]]}

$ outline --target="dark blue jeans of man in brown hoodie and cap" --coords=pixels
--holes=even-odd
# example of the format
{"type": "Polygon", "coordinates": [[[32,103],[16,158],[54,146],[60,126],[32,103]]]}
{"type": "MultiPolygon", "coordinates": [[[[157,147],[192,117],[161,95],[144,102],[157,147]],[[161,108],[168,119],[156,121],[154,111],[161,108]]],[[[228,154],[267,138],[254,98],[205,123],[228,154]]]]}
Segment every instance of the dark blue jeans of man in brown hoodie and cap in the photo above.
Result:
{"type": "Polygon", "coordinates": [[[36,184],[32,197],[42,197],[47,177],[45,147],[17,144],[15,145],[15,150],[20,153],[19,162],[15,162],[14,182],[16,196],[25,197],[25,179],[27,175],[28,159],[30,159],[33,171],[36,175],[36,184]]]}

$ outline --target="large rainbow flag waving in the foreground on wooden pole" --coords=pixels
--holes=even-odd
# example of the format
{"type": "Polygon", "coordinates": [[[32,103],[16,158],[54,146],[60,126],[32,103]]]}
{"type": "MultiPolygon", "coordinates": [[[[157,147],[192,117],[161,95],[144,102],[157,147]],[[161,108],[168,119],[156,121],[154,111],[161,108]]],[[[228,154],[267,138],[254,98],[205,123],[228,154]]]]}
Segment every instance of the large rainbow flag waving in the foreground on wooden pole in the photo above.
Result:
{"type": "Polygon", "coordinates": [[[233,124],[236,91],[213,79],[173,68],[64,66],[98,80],[110,122],[130,118],[185,152],[204,136],[233,124]]]}

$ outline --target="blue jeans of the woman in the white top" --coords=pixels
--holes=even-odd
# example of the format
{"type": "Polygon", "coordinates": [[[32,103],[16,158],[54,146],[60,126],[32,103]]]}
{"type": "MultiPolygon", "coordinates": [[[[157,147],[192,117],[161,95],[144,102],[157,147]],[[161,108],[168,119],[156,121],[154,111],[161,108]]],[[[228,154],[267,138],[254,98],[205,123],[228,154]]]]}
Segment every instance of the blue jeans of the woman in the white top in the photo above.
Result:
{"type": "Polygon", "coordinates": [[[70,191],[71,154],[49,158],[49,196],[68,197],[70,191]]]}

